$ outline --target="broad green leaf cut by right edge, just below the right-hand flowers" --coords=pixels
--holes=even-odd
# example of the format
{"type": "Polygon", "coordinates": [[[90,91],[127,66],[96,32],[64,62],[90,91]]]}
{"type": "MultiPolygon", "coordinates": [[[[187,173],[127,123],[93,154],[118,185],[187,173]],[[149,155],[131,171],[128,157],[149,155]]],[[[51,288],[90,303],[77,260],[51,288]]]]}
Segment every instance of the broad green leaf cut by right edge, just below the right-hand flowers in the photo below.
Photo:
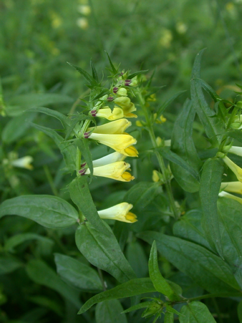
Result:
{"type": "Polygon", "coordinates": [[[230,198],[218,199],[221,241],[224,259],[230,264],[234,277],[242,288],[242,209],[230,198]]]}

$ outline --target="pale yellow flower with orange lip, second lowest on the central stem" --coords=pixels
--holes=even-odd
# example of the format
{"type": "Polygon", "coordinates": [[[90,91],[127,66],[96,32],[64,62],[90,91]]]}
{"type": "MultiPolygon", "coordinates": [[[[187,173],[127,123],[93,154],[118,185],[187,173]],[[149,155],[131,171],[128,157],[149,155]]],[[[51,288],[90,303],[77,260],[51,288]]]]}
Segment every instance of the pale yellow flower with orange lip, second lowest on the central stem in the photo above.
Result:
{"type": "MultiPolygon", "coordinates": [[[[129,168],[130,164],[125,163],[125,161],[116,161],[112,164],[94,167],[93,175],[112,178],[113,180],[121,182],[130,182],[134,179],[134,176],[129,172],[126,172],[129,168]]],[[[85,174],[90,174],[89,168],[86,170],[85,174]]]]}

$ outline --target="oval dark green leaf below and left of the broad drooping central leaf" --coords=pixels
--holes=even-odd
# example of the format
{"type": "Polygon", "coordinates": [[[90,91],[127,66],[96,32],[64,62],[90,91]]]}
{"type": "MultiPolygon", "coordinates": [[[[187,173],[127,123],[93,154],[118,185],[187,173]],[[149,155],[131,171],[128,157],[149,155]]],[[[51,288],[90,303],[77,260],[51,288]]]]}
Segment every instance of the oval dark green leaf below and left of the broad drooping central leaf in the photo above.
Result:
{"type": "Polygon", "coordinates": [[[86,292],[100,292],[102,284],[97,272],[81,261],[64,254],[55,253],[54,261],[57,273],[64,281],[86,292]]]}

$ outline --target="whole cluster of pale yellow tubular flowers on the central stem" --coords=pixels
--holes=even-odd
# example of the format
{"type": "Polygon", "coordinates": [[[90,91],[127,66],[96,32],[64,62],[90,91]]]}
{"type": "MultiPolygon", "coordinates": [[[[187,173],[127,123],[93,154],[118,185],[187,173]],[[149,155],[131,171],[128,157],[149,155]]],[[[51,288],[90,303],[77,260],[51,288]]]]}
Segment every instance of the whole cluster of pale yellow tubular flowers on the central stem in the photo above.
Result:
{"type": "MultiPolygon", "coordinates": [[[[111,94],[102,96],[99,101],[90,110],[92,117],[104,118],[110,122],[96,127],[85,129],[83,137],[93,139],[104,144],[115,152],[112,152],[102,158],[93,160],[93,175],[111,178],[117,181],[130,182],[134,179],[128,171],[130,164],[124,159],[129,157],[138,157],[138,151],[135,148],[137,140],[126,133],[126,129],[131,126],[131,122],[126,118],[136,118],[133,114],[136,111],[134,103],[128,97],[128,91],[124,86],[136,86],[135,80],[121,80],[115,86],[111,87],[111,94]],[[123,85],[123,86],[122,86],[123,85]],[[112,102],[112,110],[107,104],[112,102]]],[[[81,164],[79,175],[89,175],[90,169],[86,163],[81,164]]],[[[102,219],[114,219],[127,223],[134,223],[137,217],[130,212],[132,204],[123,202],[114,205],[108,209],[98,211],[102,219]]]]}

